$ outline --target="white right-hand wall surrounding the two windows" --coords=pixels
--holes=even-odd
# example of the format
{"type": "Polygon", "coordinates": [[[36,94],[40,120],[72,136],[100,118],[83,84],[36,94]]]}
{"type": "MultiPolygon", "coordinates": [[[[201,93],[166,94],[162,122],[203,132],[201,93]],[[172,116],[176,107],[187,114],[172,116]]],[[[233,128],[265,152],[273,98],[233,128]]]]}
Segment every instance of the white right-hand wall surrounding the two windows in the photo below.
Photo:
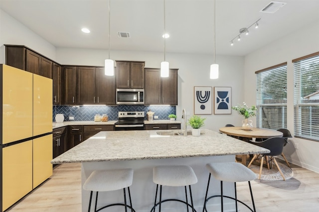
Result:
{"type": "MultiPolygon", "coordinates": [[[[287,62],[287,128],[294,135],[294,67],[292,60],[319,51],[319,20],[245,57],[245,101],[256,102],[255,71],[287,62]],[[252,95],[254,94],[254,95],[252,95]]],[[[319,172],[319,142],[289,139],[284,153],[289,161],[319,172]],[[299,148],[296,149],[296,143],[299,148]]]]}

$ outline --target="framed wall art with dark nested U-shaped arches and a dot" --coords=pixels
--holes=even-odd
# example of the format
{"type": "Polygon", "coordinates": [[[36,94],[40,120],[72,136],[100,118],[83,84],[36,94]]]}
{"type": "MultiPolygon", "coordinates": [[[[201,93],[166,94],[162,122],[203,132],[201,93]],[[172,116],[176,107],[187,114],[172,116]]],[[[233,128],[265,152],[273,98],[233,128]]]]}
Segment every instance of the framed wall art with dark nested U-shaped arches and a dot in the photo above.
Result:
{"type": "Polygon", "coordinates": [[[194,86],[194,114],[212,114],[212,87],[194,86]]]}

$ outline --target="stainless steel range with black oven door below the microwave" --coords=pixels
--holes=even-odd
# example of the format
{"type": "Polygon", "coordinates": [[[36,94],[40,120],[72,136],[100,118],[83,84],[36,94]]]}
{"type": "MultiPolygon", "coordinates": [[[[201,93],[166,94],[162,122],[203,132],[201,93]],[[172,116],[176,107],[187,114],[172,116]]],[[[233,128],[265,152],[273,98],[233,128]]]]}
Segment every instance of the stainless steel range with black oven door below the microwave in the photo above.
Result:
{"type": "Polygon", "coordinates": [[[144,111],[119,112],[119,121],[115,123],[115,130],[144,130],[144,111]]]}

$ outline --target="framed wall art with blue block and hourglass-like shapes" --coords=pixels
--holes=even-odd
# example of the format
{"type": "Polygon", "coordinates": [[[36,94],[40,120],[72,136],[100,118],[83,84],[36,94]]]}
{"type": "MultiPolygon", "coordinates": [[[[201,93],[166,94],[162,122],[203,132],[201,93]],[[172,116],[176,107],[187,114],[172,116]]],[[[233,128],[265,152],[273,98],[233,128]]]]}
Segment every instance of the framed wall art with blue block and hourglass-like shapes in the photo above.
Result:
{"type": "Polygon", "coordinates": [[[231,87],[214,87],[214,114],[231,114],[231,87]]]}

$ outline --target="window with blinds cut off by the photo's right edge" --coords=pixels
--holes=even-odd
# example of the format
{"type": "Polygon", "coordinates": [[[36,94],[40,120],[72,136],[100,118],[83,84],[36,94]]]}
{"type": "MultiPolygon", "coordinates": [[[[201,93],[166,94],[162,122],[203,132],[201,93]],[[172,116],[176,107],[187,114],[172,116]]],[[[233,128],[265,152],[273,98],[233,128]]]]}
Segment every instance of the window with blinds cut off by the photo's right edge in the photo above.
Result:
{"type": "Polygon", "coordinates": [[[293,63],[295,136],[319,141],[319,52],[293,63]]]}

